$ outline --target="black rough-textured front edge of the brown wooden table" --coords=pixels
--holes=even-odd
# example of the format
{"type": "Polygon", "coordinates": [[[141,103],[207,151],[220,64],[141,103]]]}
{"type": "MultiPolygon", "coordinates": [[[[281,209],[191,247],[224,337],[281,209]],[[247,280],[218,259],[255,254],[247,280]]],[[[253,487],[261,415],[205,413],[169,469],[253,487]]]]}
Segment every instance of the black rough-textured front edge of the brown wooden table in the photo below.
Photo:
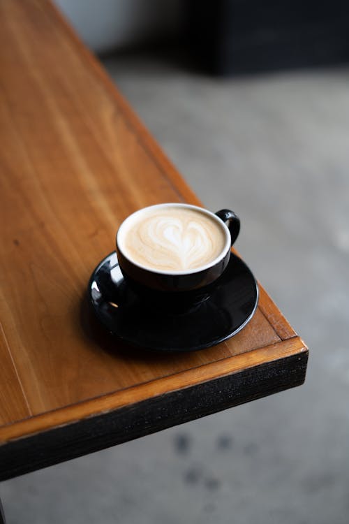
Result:
{"type": "Polygon", "coordinates": [[[308,351],[0,446],[0,481],[303,384],[308,351]]]}

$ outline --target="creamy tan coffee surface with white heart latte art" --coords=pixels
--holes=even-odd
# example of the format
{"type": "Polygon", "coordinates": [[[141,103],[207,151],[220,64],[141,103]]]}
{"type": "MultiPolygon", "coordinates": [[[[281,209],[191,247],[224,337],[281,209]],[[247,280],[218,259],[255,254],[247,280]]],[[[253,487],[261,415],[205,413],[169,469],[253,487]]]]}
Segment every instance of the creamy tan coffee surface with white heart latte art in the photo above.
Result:
{"type": "Polygon", "coordinates": [[[225,247],[223,226],[200,210],[146,209],[128,222],[121,247],[128,259],[147,269],[194,270],[216,259],[225,247]]]}

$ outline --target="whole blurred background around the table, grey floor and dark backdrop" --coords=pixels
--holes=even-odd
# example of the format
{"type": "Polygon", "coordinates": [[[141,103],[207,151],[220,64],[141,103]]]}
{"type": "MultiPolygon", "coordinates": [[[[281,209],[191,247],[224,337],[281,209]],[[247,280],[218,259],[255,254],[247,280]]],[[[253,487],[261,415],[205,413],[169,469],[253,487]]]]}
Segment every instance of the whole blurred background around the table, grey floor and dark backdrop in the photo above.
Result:
{"type": "Polygon", "coordinates": [[[295,390],[3,483],[8,524],[348,523],[348,4],[56,3],[311,355],[295,390]]]}

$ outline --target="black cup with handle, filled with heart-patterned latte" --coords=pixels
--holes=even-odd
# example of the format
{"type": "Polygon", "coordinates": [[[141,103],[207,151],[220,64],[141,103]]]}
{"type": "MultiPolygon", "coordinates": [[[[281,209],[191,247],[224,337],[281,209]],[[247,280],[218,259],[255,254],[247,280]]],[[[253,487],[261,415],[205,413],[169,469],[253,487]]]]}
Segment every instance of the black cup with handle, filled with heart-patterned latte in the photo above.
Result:
{"type": "Polygon", "coordinates": [[[184,203],[142,208],[117,231],[121,272],[145,293],[203,291],[223,274],[239,229],[230,210],[213,213],[184,203]]]}

